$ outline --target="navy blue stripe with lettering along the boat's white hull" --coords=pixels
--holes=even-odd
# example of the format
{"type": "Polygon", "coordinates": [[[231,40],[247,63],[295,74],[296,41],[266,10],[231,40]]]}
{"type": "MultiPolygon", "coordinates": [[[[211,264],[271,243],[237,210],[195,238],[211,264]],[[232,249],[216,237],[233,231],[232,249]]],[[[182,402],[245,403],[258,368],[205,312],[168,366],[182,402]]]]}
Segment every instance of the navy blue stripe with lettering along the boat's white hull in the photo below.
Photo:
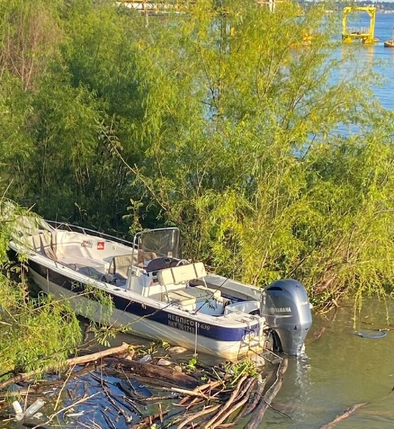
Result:
{"type": "MultiPolygon", "coordinates": [[[[48,278],[49,281],[57,284],[60,287],[64,287],[65,289],[75,293],[85,291],[85,284],[83,283],[77,283],[75,280],[63,276],[62,274],[37,264],[36,262],[30,261],[29,264],[37,274],[44,277],[45,279],[48,278]]],[[[196,321],[192,318],[178,316],[164,309],[157,309],[152,306],[130,301],[110,292],[108,292],[108,294],[111,296],[114,306],[119,310],[123,310],[141,317],[144,316],[150,320],[154,320],[155,322],[159,322],[163,325],[167,325],[181,331],[190,332],[192,334],[196,333],[196,321]]],[[[255,323],[251,326],[251,329],[257,334],[260,330],[260,324],[255,323]]],[[[244,336],[249,333],[250,331],[246,327],[230,328],[199,322],[197,324],[197,335],[219,341],[242,341],[244,336]]]]}

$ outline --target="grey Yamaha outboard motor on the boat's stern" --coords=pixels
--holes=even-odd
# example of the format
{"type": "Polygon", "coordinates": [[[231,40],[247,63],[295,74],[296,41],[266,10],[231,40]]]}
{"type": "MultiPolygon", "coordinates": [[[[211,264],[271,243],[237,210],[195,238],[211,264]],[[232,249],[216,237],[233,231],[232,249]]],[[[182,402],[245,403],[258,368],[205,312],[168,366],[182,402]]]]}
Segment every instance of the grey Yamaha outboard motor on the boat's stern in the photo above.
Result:
{"type": "Polygon", "coordinates": [[[282,351],[298,355],[312,325],[308,295],[302,284],[293,279],[274,281],[264,289],[260,312],[278,335],[282,351]]]}

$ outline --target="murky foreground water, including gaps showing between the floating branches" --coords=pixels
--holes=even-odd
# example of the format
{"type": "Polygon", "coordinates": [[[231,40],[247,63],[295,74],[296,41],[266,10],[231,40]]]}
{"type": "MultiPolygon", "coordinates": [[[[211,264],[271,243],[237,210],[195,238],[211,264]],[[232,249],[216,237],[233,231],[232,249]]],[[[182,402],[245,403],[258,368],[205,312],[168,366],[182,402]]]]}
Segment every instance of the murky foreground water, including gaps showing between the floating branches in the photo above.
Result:
{"type": "MultiPolygon", "coordinates": [[[[364,303],[355,325],[352,316],[352,307],[347,306],[314,317],[311,334],[322,327],[325,327],[326,331],[316,341],[311,342],[312,336],[307,339],[303,357],[290,359],[282,389],[272,404],[282,413],[268,409],[261,428],[320,428],[349,406],[360,402],[368,402],[368,405],[341,422],[338,428],[394,428],[394,325],[390,327],[390,324],[394,323],[394,300],[387,305],[376,300],[364,303]],[[367,332],[370,329],[388,327],[392,330],[388,331],[384,338],[361,338],[353,335],[355,328],[367,332]]],[[[377,331],[374,334],[376,335],[377,331]]],[[[118,345],[122,341],[145,343],[141,338],[121,335],[112,345],[118,345]]],[[[191,357],[192,352],[188,351],[184,355],[169,359],[173,362],[179,359],[188,362],[191,357]]],[[[215,362],[208,356],[200,355],[198,359],[209,364],[215,362]]],[[[113,419],[116,428],[126,429],[130,426],[122,416],[117,417],[118,413],[111,408],[111,403],[102,391],[101,377],[113,398],[122,398],[124,394],[119,390],[122,379],[100,374],[99,370],[74,379],[67,384],[62,395],[62,406],[82,397],[86,389],[90,395],[97,393],[97,396],[76,407],[73,410],[77,412],[75,417],[62,417],[61,427],[78,428],[94,421],[98,425],[96,428],[109,428],[103,419],[105,413],[113,419]]],[[[143,384],[136,380],[134,383],[136,389],[146,390],[143,384]]],[[[154,395],[162,394],[152,388],[148,388],[148,394],[149,391],[154,395]]],[[[47,403],[42,409],[44,416],[51,414],[52,404],[58,394],[59,388],[49,388],[42,395],[47,403]]],[[[171,401],[167,405],[170,403],[171,401]]],[[[143,414],[157,411],[156,408],[148,407],[144,410],[138,406],[143,414]]],[[[157,407],[153,404],[152,406],[157,407]]],[[[133,411],[132,408],[127,409],[130,415],[133,411]]],[[[6,417],[6,414],[7,411],[3,411],[2,417],[6,417]]],[[[20,423],[7,422],[3,418],[0,419],[0,428],[21,428],[20,423]]],[[[133,423],[138,420],[138,416],[134,414],[133,423]]],[[[243,419],[234,428],[241,429],[245,423],[246,419],[243,419]]]]}

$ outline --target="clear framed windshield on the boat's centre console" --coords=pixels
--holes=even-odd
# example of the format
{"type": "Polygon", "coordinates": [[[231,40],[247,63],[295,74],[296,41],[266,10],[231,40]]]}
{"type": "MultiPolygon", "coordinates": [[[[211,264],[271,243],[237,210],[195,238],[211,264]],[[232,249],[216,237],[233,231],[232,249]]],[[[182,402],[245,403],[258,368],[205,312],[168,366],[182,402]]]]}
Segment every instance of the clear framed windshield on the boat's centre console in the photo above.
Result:
{"type": "Polygon", "coordinates": [[[178,228],[142,231],[135,236],[134,243],[138,244],[139,262],[144,265],[156,258],[182,258],[178,228]]]}

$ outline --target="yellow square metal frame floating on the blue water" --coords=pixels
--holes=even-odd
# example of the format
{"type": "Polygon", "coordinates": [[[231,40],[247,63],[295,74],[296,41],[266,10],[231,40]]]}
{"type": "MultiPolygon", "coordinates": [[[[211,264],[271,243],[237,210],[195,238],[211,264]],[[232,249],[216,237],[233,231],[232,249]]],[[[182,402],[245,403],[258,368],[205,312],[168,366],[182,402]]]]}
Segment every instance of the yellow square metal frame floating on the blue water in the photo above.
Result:
{"type": "Polygon", "coordinates": [[[342,40],[345,43],[353,43],[353,40],[361,40],[362,43],[371,44],[377,42],[375,39],[375,16],[376,8],[373,6],[347,6],[343,8],[342,18],[342,40]],[[355,12],[366,12],[369,15],[369,27],[348,27],[347,18],[355,12]]]}

